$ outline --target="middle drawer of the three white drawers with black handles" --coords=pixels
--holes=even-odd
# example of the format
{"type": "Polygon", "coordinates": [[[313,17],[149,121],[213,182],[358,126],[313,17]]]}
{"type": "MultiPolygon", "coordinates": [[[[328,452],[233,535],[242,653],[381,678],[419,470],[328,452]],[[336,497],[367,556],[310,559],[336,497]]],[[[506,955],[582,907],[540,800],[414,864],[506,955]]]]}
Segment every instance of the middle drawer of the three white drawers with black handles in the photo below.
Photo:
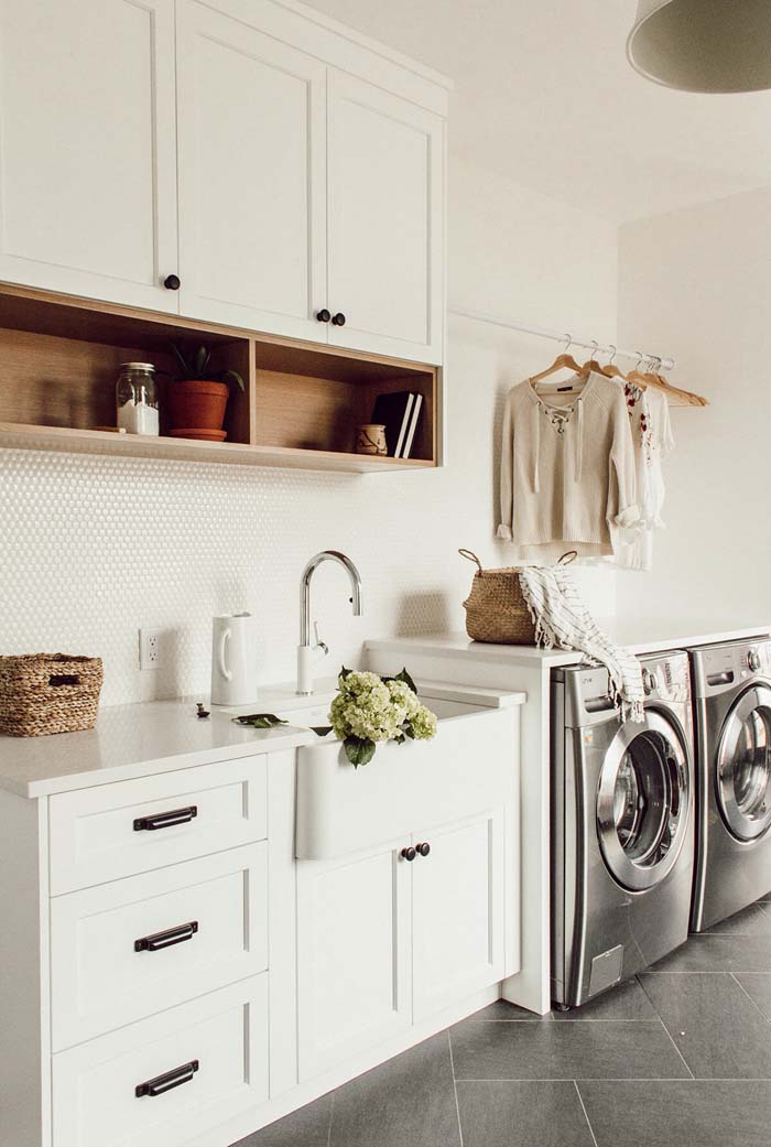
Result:
{"type": "Polygon", "coordinates": [[[71,1047],[267,967],[267,844],[59,896],[52,1043],[71,1047]]]}

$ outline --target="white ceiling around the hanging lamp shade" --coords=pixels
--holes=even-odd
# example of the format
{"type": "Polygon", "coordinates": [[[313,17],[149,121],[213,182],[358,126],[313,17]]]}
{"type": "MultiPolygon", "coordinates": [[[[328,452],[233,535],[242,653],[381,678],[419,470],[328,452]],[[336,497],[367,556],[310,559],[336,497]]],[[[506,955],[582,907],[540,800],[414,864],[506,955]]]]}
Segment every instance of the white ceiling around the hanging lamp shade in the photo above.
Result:
{"type": "Polygon", "coordinates": [[[771,184],[771,92],[692,95],[626,62],[637,0],[312,0],[454,80],[450,147],[615,223],[771,184]]]}

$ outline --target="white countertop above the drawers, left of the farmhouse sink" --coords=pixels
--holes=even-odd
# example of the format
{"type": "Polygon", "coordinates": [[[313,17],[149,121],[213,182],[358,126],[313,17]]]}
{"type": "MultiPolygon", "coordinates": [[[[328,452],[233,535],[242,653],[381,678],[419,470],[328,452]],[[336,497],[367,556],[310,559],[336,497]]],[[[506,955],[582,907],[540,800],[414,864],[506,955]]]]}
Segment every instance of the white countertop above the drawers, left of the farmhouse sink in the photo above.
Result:
{"type": "MultiPolygon", "coordinates": [[[[271,711],[260,697],[256,710],[271,711]]],[[[0,788],[20,796],[107,785],[216,760],[294,749],[314,740],[306,728],[256,729],[195,701],[149,701],[100,709],[93,729],[52,736],[0,736],[0,788]]]]}

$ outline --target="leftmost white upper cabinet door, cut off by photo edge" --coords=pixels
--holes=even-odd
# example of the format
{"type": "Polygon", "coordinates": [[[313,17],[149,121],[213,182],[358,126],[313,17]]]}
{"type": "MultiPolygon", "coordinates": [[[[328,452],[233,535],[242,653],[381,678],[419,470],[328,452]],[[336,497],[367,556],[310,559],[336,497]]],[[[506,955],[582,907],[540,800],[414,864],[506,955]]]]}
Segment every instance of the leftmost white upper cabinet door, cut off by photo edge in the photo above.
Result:
{"type": "Polygon", "coordinates": [[[0,278],[177,311],[174,0],[0,0],[0,278]]]}

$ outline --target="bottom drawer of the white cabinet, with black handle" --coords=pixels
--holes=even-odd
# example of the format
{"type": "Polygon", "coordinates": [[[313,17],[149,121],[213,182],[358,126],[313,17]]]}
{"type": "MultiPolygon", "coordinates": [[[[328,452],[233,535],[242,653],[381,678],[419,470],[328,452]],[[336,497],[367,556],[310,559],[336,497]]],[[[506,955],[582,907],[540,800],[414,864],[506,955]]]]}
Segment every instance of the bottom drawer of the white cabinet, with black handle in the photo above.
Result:
{"type": "Polygon", "coordinates": [[[267,1006],[263,973],[54,1055],[56,1147],[184,1147],[264,1102],[267,1006]]]}

